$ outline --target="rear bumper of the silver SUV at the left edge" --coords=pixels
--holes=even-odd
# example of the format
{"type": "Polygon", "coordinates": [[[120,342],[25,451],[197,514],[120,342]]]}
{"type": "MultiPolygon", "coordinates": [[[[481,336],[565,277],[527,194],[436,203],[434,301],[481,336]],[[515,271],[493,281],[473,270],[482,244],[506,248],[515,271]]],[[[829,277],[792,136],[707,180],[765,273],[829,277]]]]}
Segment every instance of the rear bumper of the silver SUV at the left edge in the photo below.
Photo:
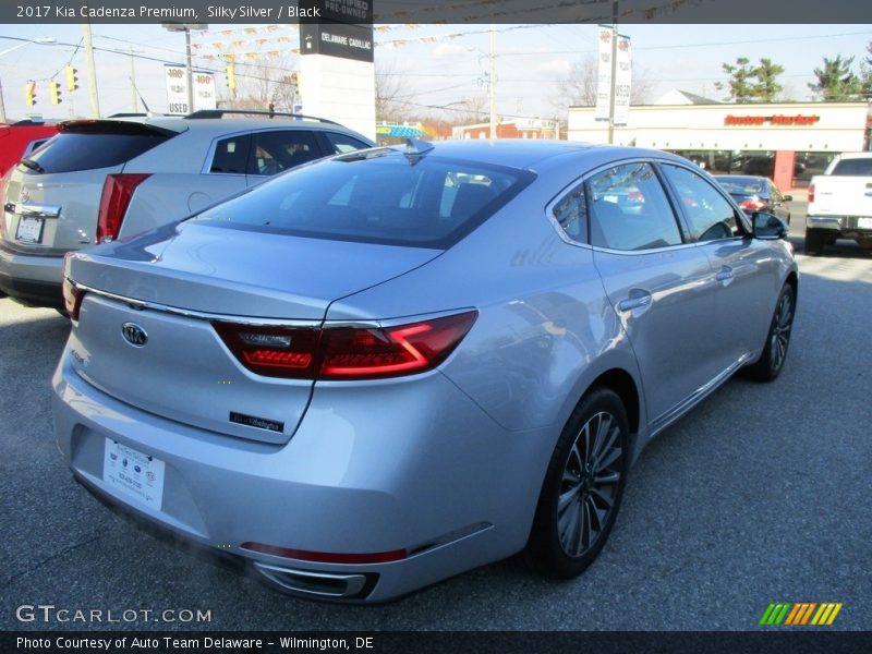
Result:
{"type": "Polygon", "coordinates": [[[63,257],[36,256],[0,245],[0,291],[33,306],[63,308],[63,257]]]}

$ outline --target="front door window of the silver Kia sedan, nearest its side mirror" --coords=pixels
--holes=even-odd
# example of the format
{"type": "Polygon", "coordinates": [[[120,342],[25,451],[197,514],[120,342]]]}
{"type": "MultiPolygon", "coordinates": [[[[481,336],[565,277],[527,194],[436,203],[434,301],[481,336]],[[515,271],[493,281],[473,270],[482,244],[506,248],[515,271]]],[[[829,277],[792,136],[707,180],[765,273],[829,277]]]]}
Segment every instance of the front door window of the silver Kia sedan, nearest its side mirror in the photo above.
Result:
{"type": "Polygon", "coordinates": [[[664,164],[666,179],[678,194],[681,209],[699,241],[741,235],[732,205],[700,174],[680,166],[664,164]]]}

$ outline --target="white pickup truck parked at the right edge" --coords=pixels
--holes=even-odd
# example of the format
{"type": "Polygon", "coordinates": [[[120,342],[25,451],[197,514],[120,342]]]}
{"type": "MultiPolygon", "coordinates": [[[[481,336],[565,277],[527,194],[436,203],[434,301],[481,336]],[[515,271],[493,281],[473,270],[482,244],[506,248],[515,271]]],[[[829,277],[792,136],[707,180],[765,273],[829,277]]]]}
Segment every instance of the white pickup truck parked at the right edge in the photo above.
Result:
{"type": "Polygon", "coordinates": [[[822,254],[836,239],[872,249],[872,153],[839,155],[809,184],[806,253],[822,254]]]}

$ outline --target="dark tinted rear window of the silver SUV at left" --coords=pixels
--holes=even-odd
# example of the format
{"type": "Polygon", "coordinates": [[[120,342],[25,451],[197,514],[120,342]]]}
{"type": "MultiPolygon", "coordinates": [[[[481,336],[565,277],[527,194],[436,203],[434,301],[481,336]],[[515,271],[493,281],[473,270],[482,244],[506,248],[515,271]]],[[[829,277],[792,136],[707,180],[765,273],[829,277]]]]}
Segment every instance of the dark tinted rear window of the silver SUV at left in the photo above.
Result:
{"type": "MultiPolygon", "coordinates": [[[[29,158],[39,164],[45,173],[109,168],[138,157],[168,137],[157,132],[61,132],[29,158]]],[[[36,174],[34,170],[23,166],[20,170],[36,174]]]]}

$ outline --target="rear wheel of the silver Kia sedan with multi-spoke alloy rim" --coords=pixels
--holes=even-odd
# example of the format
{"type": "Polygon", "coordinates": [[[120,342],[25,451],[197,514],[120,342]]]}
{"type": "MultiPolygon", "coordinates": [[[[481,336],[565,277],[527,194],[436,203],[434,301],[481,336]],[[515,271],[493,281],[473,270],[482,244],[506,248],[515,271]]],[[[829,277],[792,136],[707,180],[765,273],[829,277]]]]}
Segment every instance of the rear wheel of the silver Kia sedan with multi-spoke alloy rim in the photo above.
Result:
{"type": "Polygon", "coordinates": [[[605,545],[629,464],[620,398],[594,388],[576,407],[548,463],[524,559],[543,577],[581,574],[605,545]]]}

